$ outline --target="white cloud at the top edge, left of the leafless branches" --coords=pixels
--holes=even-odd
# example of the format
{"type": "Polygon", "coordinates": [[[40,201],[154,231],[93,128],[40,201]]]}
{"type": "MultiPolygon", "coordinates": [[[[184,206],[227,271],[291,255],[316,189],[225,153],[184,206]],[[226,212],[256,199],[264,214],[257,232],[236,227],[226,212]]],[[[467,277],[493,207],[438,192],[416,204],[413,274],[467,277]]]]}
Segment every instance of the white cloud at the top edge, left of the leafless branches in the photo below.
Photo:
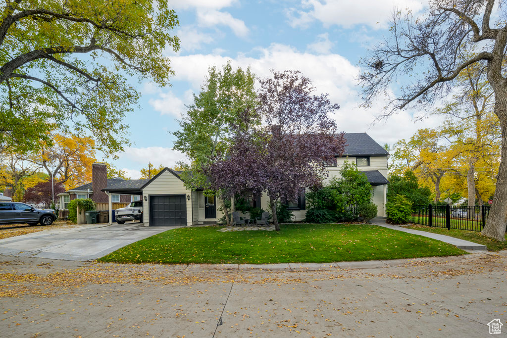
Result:
{"type": "Polygon", "coordinates": [[[288,22],[293,27],[306,27],[314,20],[324,26],[338,25],[350,28],[364,24],[374,29],[386,28],[395,8],[420,11],[426,0],[302,0],[303,9],[287,11],[288,22]]]}

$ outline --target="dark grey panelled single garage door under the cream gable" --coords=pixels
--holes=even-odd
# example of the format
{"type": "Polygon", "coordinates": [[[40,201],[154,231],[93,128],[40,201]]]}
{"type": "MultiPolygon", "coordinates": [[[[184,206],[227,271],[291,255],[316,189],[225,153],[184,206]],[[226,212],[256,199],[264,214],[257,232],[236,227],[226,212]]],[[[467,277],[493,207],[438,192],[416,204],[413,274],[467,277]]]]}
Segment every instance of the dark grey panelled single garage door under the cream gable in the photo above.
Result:
{"type": "Polygon", "coordinates": [[[150,226],[186,226],[185,195],[150,196],[150,226]]]}

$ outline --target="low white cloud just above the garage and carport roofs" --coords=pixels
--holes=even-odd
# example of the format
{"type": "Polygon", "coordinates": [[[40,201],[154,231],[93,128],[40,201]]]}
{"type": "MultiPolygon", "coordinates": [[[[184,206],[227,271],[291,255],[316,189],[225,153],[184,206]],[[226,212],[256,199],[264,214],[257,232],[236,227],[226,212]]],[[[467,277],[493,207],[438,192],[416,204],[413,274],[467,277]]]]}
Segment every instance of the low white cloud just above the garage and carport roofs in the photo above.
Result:
{"type": "MultiPolygon", "coordinates": [[[[156,166],[162,164],[171,168],[176,165],[176,162],[186,160],[185,155],[182,153],[174,151],[171,148],[160,146],[142,148],[128,147],[125,149],[125,152],[119,154],[119,159],[122,158],[128,158],[129,163],[132,163],[133,167],[137,165],[139,168],[147,167],[149,162],[156,166]]],[[[128,173],[134,178],[136,170],[123,170],[129,170],[128,173]]]]}

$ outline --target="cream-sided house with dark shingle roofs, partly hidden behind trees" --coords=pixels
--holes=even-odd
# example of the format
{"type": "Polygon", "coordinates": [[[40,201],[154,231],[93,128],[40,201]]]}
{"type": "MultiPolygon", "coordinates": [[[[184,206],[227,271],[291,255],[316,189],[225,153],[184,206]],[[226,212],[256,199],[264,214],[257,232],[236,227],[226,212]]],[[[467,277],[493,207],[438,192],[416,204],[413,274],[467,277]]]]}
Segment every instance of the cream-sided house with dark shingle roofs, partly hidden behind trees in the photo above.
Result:
{"type": "MultiPolygon", "coordinates": [[[[331,178],[338,176],[345,161],[352,161],[365,173],[372,184],[372,202],[377,205],[378,215],[385,216],[387,192],[387,157],[385,149],[366,133],[345,134],[347,146],[341,157],[328,165],[331,178]]],[[[143,221],[145,226],[187,225],[214,223],[223,216],[217,206],[220,201],[215,197],[206,197],[202,191],[188,190],[179,177],[181,172],[165,168],[150,180],[128,180],[123,184],[108,180],[102,191],[111,196],[127,194],[142,196],[143,221]],[[131,182],[132,181],[132,182],[131,182]],[[138,181],[138,182],[133,182],[138,181]],[[140,182],[144,181],[144,182],[140,182]]],[[[328,178],[328,180],[329,180],[328,178]]],[[[80,187],[80,189],[82,189],[80,187]]],[[[98,190],[93,187],[96,194],[98,190]]],[[[71,191],[69,191],[70,193],[71,191]]],[[[76,190],[72,192],[77,193],[76,190]]],[[[84,192],[81,191],[83,194],[84,192]]],[[[118,197],[116,197],[118,199],[118,197]]],[[[121,197],[120,197],[121,199],[121,197]]],[[[269,210],[269,198],[259,196],[256,206],[269,210]]],[[[298,203],[289,205],[295,221],[303,220],[306,213],[304,196],[298,203]]]]}

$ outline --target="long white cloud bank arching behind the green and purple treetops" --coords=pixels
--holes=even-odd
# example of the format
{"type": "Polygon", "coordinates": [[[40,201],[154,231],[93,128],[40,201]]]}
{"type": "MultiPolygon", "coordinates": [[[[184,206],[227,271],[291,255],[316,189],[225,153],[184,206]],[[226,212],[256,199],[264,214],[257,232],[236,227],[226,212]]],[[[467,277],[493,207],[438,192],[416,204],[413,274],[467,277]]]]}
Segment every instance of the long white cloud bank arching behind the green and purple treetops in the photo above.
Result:
{"type": "Polygon", "coordinates": [[[358,107],[361,101],[356,79],[360,69],[343,56],[302,53],[293,47],[279,44],[255,51],[258,57],[247,57],[243,54],[234,59],[202,54],[176,56],[171,59],[176,72],[175,80],[188,81],[197,92],[207,75],[208,67],[216,65],[221,68],[227,60],[231,60],[233,67],[250,66],[252,72],[259,77],[270,77],[269,69],[299,69],[313,81],[317,92],[329,93],[330,100],[341,105],[334,114],[340,131],[367,132],[381,144],[394,143],[401,138],[410,137],[417,129],[437,127],[441,122],[432,117],[415,123],[412,116],[417,115],[417,112],[404,110],[385,122],[372,125],[375,117],[383,111],[385,102],[379,99],[370,109],[358,107]]]}

